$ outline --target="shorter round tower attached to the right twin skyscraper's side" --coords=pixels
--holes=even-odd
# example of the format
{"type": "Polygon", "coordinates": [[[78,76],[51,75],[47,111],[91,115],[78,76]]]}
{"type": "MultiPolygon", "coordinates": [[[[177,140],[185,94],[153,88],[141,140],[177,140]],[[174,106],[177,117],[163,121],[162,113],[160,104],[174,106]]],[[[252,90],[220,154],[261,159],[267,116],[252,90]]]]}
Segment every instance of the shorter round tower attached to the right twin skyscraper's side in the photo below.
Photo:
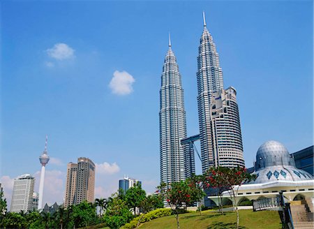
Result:
{"type": "Polygon", "coordinates": [[[243,167],[243,146],[237,91],[220,89],[211,95],[211,135],[214,166],[243,167]]]}

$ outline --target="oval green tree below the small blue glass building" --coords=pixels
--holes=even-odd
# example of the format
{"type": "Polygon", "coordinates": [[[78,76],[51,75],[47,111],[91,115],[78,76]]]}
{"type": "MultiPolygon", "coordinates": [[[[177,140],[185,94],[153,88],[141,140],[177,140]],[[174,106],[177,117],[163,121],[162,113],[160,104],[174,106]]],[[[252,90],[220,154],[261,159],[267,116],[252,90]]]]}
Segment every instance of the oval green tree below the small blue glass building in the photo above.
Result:
{"type": "Polygon", "coordinates": [[[140,203],[144,200],[146,192],[142,189],[140,183],[135,184],[126,191],[126,202],[130,208],[133,208],[134,215],[136,216],[136,208],[140,207],[140,203]]]}

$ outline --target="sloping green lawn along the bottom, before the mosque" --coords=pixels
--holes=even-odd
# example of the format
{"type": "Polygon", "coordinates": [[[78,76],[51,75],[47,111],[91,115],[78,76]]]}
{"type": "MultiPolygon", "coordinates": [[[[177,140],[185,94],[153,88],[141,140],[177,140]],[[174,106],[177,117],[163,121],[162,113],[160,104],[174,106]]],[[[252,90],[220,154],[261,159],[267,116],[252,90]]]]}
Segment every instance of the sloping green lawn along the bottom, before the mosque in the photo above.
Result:
{"type": "MultiPolygon", "coordinates": [[[[240,228],[249,229],[281,229],[281,219],[278,212],[261,211],[253,212],[252,210],[241,210],[240,212],[240,228]]],[[[235,228],[237,225],[237,215],[234,212],[226,212],[225,215],[220,215],[216,212],[206,211],[203,216],[200,213],[187,213],[179,215],[180,228],[199,229],[227,229],[235,228]]],[[[174,216],[165,216],[159,219],[154,219],[140,226],[141,229],[159,229],[159,228],[177,228],[176,219],[174,216]]]]}

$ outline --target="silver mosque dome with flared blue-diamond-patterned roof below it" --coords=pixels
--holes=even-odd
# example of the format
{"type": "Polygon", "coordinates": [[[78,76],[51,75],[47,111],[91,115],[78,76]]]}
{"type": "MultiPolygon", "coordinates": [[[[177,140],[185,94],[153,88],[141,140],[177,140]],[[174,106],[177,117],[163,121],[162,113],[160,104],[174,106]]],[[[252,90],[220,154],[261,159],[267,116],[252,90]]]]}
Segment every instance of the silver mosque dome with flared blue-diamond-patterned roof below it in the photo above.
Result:
{"type": "Polygon", "coordinates": [[[294,158],[287,148],[274,140],[265,142],[257,150],[255,172],[257,176],[253,183],[266,183],[278,180],[301,181],[313,179],[304,170],[295,167],[294,158]]]}

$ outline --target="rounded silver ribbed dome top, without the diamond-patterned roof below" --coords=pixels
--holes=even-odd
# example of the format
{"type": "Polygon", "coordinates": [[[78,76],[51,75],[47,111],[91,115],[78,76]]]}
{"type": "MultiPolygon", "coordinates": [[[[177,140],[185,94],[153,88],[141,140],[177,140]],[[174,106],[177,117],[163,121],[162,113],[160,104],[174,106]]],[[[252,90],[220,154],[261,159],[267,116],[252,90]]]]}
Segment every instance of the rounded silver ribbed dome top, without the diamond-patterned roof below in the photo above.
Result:
{"type": "Polygon", "coordinates": [[[295,166],[287,148],[274,140],[267,141],[260,146],[256,154],[255,171],[274,165],[295,166]]]}

